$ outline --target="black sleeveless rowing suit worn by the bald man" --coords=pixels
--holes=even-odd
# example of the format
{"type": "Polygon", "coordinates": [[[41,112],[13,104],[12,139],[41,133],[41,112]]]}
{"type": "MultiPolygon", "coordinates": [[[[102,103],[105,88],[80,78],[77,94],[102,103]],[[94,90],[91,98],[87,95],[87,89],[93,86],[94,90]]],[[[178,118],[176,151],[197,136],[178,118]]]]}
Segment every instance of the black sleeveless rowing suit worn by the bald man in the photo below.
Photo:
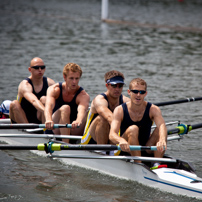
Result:
{"type": "MultiPolygon", "coordinates": [[[[30,78],[26,78],[25,80],[27,80],[33,89],[33,94],[36,95],[36,97],[38,99],[40,99],[42,96],[46,96],[46,91],[48,89],[48,81],[47,81],[47,77],[43,77],[43,87],[41,89],[40,92],[36,93],[34,90],[34,86],[33,83],[31,81],[30,78]]],[[[38,119],[37,119],[37,110],[36,108],[30,103],[28,102],[24,97],[21,100],[21,107],[24,110],[26,117],[28,119],[29,123],[41,123],[38,119]]]]}

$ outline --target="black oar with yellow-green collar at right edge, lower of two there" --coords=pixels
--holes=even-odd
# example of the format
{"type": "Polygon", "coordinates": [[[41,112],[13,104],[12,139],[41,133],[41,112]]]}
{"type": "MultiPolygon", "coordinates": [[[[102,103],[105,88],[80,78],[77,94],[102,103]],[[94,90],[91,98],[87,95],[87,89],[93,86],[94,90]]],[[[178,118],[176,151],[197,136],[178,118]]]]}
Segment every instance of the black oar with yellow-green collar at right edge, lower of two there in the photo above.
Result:
{"type": "Polygon", "coordinates": [[[184,125],[180,124],[174,129],[168,130],[168,135],[172,135],[178,133],[179,135],[184,135],[190,132],[191,130],[202,128],[202,123],[194,124],[194,125],[184,125]]]}

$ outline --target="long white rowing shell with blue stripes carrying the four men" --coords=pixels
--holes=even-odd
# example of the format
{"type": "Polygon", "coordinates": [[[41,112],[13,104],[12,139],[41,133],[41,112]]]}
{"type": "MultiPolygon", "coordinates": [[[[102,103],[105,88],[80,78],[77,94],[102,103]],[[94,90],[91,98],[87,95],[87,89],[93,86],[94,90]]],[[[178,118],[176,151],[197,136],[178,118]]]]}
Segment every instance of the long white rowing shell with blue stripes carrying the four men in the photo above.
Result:
{"type": "MultiPolygon", "coordinates": [[[[1,133],[16,133],[16,130],[1,130],[1,133]]],[[[19,133],[19,131],[18,131],[19,133]]],[[[47,142],[45,138],[0,138],[0,141],[11,145],[29,145],[47,142]]],[[[39,155],[47,156],[43,151],[33,151],[39,155]]],[[[85,167],[119,178],[137,181],[143,185],[158,188],[174,194],[186,195],[202,199],[202,178],[197,177],[192,166],[185,161],[166,157],[163,163],[168,168],[151,170],[151,163],[135,163],[128,157],[109,156],[103,152],[90,151],[55,151],[50,158],[60,159],[65,164],[85,167]]]]}

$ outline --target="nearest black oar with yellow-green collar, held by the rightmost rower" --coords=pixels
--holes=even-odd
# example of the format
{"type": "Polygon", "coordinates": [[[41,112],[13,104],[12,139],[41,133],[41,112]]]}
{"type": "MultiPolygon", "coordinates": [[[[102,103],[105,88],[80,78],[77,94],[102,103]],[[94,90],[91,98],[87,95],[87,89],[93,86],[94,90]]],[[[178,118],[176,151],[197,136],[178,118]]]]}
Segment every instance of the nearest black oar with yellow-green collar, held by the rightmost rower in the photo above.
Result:
{"type": "MultiPolygon", "coordinates": [[[[39,150],[46,151],[47,153],[52,153],[53,151],[61,151],[61,150],[121,150],[120,146],[116,145],[97,145],[97,144],[88,144],[88,145],[70,145],[70,144],[58,144],[58,143],[40,143],[38,145],[0,145],[1,150],[39,150]]],[[[157,150],[156,146],[139,146],[139,145],[131,145],[130,150],[157,150]]]]}

